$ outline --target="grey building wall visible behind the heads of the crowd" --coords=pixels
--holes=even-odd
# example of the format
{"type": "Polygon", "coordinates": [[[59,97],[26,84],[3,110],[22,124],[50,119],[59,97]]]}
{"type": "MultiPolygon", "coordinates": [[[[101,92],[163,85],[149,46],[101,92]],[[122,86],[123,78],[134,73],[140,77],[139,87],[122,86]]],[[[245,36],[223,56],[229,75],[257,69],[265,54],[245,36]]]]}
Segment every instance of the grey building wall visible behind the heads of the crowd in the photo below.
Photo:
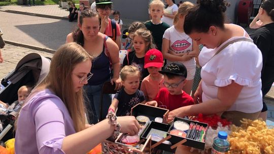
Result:
{"type": "MultiPolygon", "coordinates": [[[[176,0],[179,4],[181,0],[176,0]]],[[[196,4],[196,0],[188,0],[196,4]]],[[[230,7],[227,7],[226,16],[228,21],[236,23],[237,6],[240,0],[228,0],[230,7]]],[[[114,10],[121,13],[122,18],[134,19],[140,21],[149,20],[148,4],[150,0],[113,0],[114,10]]]]}

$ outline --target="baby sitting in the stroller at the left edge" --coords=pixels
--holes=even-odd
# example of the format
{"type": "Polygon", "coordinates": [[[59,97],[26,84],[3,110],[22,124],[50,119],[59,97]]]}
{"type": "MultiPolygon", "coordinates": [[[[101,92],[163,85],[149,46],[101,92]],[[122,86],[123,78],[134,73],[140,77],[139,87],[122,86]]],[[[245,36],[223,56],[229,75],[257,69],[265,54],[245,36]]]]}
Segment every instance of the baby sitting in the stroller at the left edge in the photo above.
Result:
{"type": "Polygon", "coordinates": [[[9,103],[4,103],[0,101],[0,114],[12,114],[16,116],[18,111],[21,108],[21,105],[24,103],[26,97],[30,94],[31,87],[30,86],[22,86],[18,89],[18,100],[13,102],[11,105],[9,103]]]}

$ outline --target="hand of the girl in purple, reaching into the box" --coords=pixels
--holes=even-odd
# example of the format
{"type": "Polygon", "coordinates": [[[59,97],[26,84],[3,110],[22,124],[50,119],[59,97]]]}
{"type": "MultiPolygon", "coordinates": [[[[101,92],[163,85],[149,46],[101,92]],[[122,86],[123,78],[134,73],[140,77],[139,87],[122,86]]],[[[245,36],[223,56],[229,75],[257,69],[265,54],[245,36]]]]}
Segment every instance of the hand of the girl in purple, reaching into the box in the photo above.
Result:
{"type": "Polygon", "coordinates": [[[117,117],[118,123],[121,125],[121,133],[127,133],[130,136],[138,134],[140,125],[133,116],[117,117]]]}

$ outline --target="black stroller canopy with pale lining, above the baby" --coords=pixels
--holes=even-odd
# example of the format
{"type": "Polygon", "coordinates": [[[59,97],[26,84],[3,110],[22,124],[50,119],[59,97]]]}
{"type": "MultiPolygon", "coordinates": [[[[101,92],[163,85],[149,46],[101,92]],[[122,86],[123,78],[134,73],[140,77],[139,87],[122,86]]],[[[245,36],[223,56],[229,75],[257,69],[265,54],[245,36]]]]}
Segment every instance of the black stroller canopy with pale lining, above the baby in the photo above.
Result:
{"type": "Polygon", "coordinates": [[[21,86],[34,86],[42,81],[49,72],[50,58],[37,53],[30,53],[23,57],[15,69],[2,81],[4,88],[0,91],[0,100],[13,103],[17,100],[17,91],[21,86]]]}

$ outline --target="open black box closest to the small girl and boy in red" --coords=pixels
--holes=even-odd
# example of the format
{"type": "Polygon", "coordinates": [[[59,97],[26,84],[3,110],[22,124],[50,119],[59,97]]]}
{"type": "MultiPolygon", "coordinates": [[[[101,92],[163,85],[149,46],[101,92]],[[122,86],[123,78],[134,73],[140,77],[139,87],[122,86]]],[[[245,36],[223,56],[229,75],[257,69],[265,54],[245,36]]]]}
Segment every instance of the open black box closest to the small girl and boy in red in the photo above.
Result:
{"type": "Polygon", "coordinates": [[[163,115],[168,113],[168,109],[145,105],[137,104],[131,108],[131,115],[137,117],[139,115],[145,115],[149,118],[150,121],[155,121],[155,118],[161,117],[163,120],[163,115]]]}

